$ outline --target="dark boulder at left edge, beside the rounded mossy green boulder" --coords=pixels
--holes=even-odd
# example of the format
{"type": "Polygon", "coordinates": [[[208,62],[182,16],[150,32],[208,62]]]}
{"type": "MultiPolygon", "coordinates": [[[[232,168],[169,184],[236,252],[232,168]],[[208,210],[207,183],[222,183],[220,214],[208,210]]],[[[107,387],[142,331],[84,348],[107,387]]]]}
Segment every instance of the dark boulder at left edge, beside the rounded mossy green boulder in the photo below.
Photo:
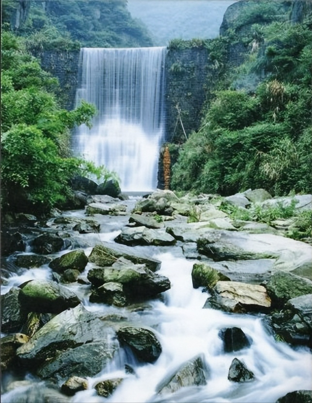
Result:
{"type": "Polygon", "coordinates": [[[18,332],[27,318],[27,313],[21,310],[19,288],[1,295],[1,331],[4,333],[18,332]]]}

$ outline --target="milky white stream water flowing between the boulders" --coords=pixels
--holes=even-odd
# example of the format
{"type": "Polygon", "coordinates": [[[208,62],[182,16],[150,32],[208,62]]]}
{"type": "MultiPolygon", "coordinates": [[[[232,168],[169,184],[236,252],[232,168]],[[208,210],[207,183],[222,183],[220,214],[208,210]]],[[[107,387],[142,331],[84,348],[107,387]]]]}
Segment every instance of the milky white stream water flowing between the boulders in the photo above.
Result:
{"type": "MultiPolygon", "coordinates": [[[[128,204],[128,212],[134,207],[137,197],[123,204],[128,204]]],[[[64,212],[63,215],[84,216],[84,211],[64,212]]],[[[93,217],[95,218],[95,217],[93,217]]],[[[98,216],[101,223],[100,233],[79,235],[90,246],[85,248],[86,255],[100,241],[114,242],[120,229],[128,223],[129,216],[98,216]]],[[[117,313],[131,318],[131,323],[147,326],[154,330],[162,346],[162,353],[155,363],[131,362],[135,375],[126,374],[122,355],[118,355],[95,378],[89,378],[88,390],[80,391],[69,398],[73,403],[140,403],[140,402],[177,402],[177,403],[274,403],[286,393],[299,389],[311,389],[312,369],[311,354],[307,348],[293,348],[287,343],[276,342],[273,335],[262,324],[261,314],[226,314],[218,310],[203,309],[208,297],[202,288],[194,289],[191,272],[196,260],[184,257],[179,243],[176,246],[155,247],[136,246],[137,251],[161,261],[157,272],[167,276],[171,289],[162,294],[161,299],[148,300],[141,310],[132,312],[100,303],[90,303],[89,286],[72,283],[67,285],[83,301],[88,311],[101,314],[117,313]],[[249,348],[225,353],[220,329],[239,327],[252,340],[249,348]],[[156,395],[156,388],[166,376],[179,365],[193,359],[204,357],[209,377],[206,385],[179,389],[169,396],[156,395]],[[228,372],[234,358],[243,361],[253,371],[255,379],[250,382],[231,382],[228,372]],[[123,382],[112,396],[103,398],[97,395],[93,385],[96,382],[123,377],[123,382]]],[[[54,254],[57,257],[63,253],[54,254]]],[[[83,275],[91,268],[87,265],[83,275]]],[[[21,276],[12,276],[7,285],[2,286],[2,294],[12,286],[18,286],[33,278],[52,278],[52,271],[47,266],[30,269],[21,276]]],[[[37,380],[31,375],[26,379],[37,380]]],[[[15,396],[20,388],[2,395],[3,403],[16,402],[15,396]]],[[[26,401],[25,401],[26,402],[26,401]]],[[[30,402],[30,401],[27,401],[30,402]]]]}

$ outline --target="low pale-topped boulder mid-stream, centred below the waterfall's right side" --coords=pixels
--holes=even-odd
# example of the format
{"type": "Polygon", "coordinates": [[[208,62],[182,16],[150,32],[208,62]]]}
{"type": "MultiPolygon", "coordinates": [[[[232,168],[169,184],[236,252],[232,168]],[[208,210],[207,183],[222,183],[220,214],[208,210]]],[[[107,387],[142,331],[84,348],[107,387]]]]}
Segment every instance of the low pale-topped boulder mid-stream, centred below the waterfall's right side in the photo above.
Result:
{"type": "Polygon", "coordinates": [[[124,228],[115,241],[129,246],[170,246],[176,243],[176,239],[169,233],[146,227],[124,228]]]}

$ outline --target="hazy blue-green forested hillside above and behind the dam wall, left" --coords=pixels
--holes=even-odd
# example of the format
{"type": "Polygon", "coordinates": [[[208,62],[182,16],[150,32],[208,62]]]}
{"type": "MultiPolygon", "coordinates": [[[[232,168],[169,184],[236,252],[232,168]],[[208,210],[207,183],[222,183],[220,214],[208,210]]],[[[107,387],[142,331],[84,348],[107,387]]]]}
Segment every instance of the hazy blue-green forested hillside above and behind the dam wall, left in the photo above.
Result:
{"type": "MultiPolygon", "coordinates": [[[[30,49],[152,46],[147,28],[131,17],[127,0],[23,2],[27,17],[15,23],[15,31],[27,38],[30,49]]],[[[2,21],[12,25],[20,3],[2,3],[2,21]]]]}

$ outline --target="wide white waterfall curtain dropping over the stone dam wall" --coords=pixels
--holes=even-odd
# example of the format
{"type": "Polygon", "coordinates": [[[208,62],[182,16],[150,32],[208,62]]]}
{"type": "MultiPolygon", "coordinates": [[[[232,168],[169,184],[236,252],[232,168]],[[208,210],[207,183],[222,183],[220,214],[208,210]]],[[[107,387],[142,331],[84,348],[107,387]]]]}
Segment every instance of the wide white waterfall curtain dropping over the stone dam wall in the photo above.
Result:
{"type": "Polygon", "coordinates": [[[104,165],[122,191],[156,189],[158,152],[164,141],[166,47],[82,48],[76,106],[94,104],[93,127],[77,128],[76,154],[104,165]]]}

